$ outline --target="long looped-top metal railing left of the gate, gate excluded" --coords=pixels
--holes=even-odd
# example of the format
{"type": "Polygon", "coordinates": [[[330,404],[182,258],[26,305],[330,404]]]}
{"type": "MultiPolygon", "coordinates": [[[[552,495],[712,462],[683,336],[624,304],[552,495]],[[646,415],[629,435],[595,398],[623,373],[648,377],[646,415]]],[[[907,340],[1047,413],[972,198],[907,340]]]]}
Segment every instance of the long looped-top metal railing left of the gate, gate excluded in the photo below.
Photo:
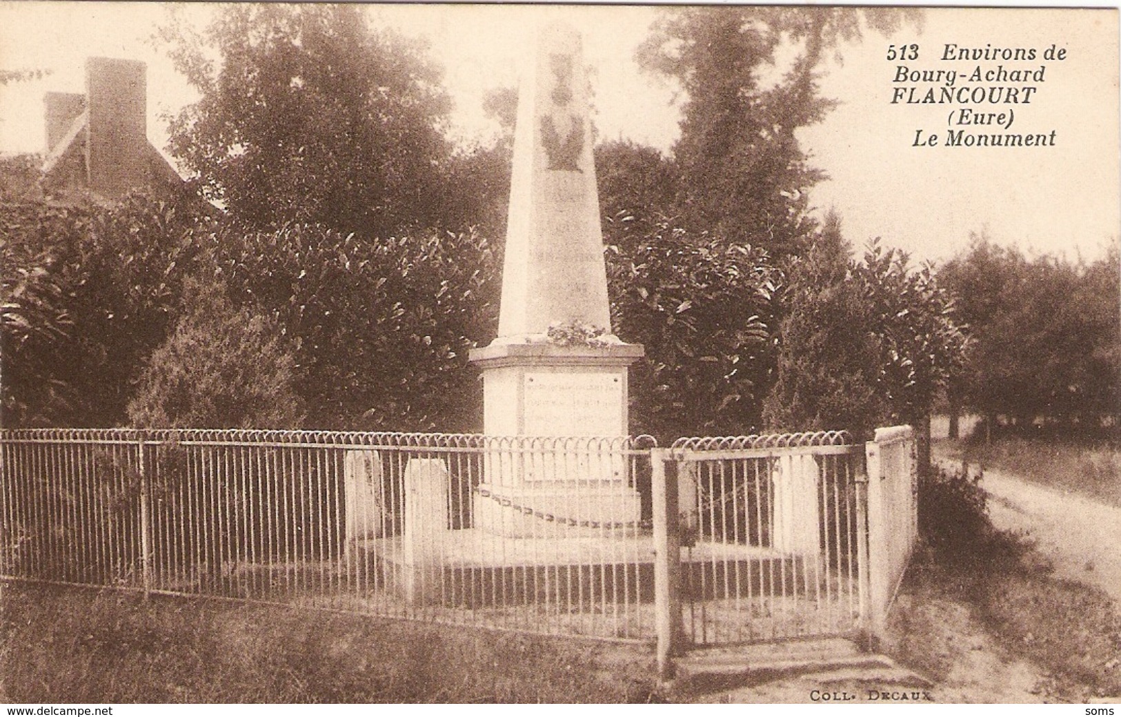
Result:
{"type": "Polygon", "coordinates": [[[649,638],[652,444],[2,431],[0,574],[649,638]]]}

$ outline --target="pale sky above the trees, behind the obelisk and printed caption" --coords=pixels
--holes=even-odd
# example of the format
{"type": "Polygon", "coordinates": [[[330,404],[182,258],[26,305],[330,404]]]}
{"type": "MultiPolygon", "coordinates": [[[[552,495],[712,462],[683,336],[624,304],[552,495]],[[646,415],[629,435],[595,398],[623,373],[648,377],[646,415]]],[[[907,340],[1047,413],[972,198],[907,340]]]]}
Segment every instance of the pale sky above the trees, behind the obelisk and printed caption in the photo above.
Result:
{"type": "MultiPolygon", "coordinates": [[[[213,7],[191,3],[180,11],[202,25],[213,7]]],[[[677,136],[676,102],[682,98],[634,61],[659,11],[643,6],[442,4],[368,10],[374,22],[425,39],[444,65],[455,102],[450,131],[457,141],[492,140],[497,126],[483,114],[483,93],[516,85],[528,65],[532,27],[548,16],[563,16],[584,34],[601,139],[630,139],[668,151],[677,136]]],[[[82,92],[83,64],[91,55],[148,63],[148,134],[164,147],[168,117],[196,99],[166,57],[166,47],[152,42],[167,17],[168,8],[158,3],[0,1],[0,67],[50,71],[39,81],[0,86],[0,153],[43,150],[43,93],[82,92]]],[[[938,261],[964,249],[971,233],[983,232],[1029,254],[1094,259],[1118,241],[1121,93],[1115,10],[927,8],[921,28],[892,37],[865,33],[861,42],[842,45],[839,55],[819,81],[823,94],[839,105],[799,139],[810,163],[830,177],[814,187],[810,203],[818,212],[835,209],[855,247],[880,237],[916,259],[938,261]],[[982,53],[1035,49],[1036,58],[947,61],[947,44],[982,53]],[[1066,50],[1063,59],[1044,58],[1053,44],[1056,53],[1066,50]],[[918,45],[918,59],[888,59],[892,45],[918,45]],[[897,82],[900,72],[954,70],[967,75],[979,65],[983,73],[999,66],[1043,68],[1044,76],[1041,82],[971,82],[958,76],[949,88],[1035,86],[1028,104],[891,102],[897,91],[906,99],[915,88],[921,99],[927,90],[938,93],[946,86],[945,74],[935,82],[897,82]],[[1011,126],[960,125],[963,108],[994,114],[1011,110],[1011,126]],[[946,147],[951,130],[1047,137],[1054,130],[1055,143],[946,147]],[[917,131],[923,141],[936,137],[938,146],[915,146],[917,131]]]]}

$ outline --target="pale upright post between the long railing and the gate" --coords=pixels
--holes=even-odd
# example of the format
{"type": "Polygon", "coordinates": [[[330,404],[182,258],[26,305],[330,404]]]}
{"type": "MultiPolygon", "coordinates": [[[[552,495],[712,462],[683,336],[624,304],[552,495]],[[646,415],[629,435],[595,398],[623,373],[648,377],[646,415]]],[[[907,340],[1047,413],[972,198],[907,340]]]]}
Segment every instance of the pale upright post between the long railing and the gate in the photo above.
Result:
{"type": "Polygon", "coordinates": [[[658,675],[673,677],[673,656],[682,637],[682,540],[677,475],[666,475],[670,452],[650,450],[654,494],[654,614],[658,634],[658,675]]]}

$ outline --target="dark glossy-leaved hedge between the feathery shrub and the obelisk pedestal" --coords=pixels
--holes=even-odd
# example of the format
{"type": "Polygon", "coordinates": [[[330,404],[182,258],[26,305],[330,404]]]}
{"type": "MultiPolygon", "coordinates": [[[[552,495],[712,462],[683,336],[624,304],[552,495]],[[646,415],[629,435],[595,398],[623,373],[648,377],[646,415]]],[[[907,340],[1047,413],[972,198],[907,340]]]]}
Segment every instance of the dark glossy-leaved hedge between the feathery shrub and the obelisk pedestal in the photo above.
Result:
{"type": "Polygon", "coordinates": [[[472,430],[467,351],[497,323],[493,255],[473,232],[378,245],[323,227],[224,227],[217,279],[293,347],[307,422],[324,429],[472,430]]]}

